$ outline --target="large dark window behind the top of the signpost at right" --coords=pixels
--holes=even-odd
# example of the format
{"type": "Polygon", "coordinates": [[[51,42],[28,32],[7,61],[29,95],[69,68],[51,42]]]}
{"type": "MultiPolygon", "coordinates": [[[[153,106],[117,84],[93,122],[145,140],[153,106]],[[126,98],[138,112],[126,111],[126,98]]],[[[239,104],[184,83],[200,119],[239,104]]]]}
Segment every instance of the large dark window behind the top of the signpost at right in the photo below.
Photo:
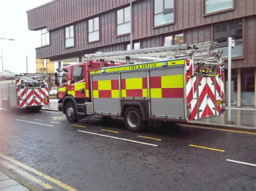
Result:
{"type": "Polygon", "coordinates": [[[235,39],[232,56],[242,56],[242,20],[214,25],[214,41],[218,42],[219,49],[223,51],[223,58],[227,58],[228,37],[235,39]]]}

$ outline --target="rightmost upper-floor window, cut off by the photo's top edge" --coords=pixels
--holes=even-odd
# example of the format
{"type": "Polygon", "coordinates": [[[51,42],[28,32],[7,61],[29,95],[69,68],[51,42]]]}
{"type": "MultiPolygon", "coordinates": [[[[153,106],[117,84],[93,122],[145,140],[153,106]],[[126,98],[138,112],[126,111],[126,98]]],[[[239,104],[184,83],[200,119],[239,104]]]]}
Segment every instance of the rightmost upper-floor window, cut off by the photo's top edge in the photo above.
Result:
{"type": "Polygon", "coordinates": [[[205,0],[205,14],[233,8],[234,0],[205,0]]]}

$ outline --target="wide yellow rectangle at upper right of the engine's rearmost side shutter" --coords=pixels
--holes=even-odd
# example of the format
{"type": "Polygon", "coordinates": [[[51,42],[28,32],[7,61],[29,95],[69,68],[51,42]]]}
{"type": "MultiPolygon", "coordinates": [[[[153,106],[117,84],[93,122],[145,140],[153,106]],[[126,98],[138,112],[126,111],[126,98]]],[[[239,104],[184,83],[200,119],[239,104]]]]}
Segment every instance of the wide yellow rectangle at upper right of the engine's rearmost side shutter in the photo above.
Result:
{"type": "Polygon", "coordinates": [[[161,88],[183,88],[183,75],[161,76],[161,88]]]}

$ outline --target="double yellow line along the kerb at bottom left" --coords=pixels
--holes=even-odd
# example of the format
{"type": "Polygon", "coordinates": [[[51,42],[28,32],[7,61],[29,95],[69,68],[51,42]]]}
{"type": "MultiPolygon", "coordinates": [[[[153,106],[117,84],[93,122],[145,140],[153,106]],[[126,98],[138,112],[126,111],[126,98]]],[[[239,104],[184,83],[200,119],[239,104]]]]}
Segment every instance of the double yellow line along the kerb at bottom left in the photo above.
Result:
{"type": "MultiPolygon", "coordinates": [[[[64,182],[62,182],[62,181],[59,181],[59,180],[57,180],[57,179],[55,179],[55,178],[52,178],[51,176],[49,176],[49,175],[47,175],[47,174],[44,174],[44,173],[38,171],[37,169],[34,169],[34,168],[32,168],[32,167],[29,167],[29,166],[23,164],[22,162],[19,162],[19,161],[15,160],[15,159],[12,159],[12,158],[10,158],[10,157],[8,157],[8,156],[2,154],[2,153],[0,153],[0,157],[2,157],[2,158],[5,159],[5,160],[8,160],[8,161],[12,162],[13,164],[18,165],[19,167],[22,167],[22,168],[24,168],[24,169],[26,169],[26,170],[28,170],[28,171],[30,171],[30,172],[32,172],[32,173],[35,173],[35,174],[41,176],[42,178],[44,178],[44,179],[46,179],[46,180],[49,180],[49,181],[55,183],[56,185],[58,185],[58,186],[60,186],[60,187],[62,187],[62,188],[64,188],[64,189],[66,189],[66,190],[77,190],[77,189],[75,189],[75,188],[73,188],[73,187],[71,187],[71,186],[69,186],[69,185],[66,185],[66,184],[65,184],[64,182]]],[[[15,166],[9,164],[9,162],[6,162],[6,161],[4,161],[4,160],[1,160],[0,162],[1,162],[3,165],[7,166],[8,168],[12,169],[13,171],[17,172],[18,174],[21,174],[21,175],[25,176],[26,178],[28,178],[28,179],[30,179],[30,180],[32,180],[32,181],[38,183],[39,185],[43,186],[43,187],[46,188],[46,189],[52,189],[52,188],[53,188],[53,187],[52,187],[51,185],[49,185],[48,183],[45,183],[45,182],[43,182],[42,180],[39,180],[39,179],[35,178],[34,176],[30,175],[29,173],[26,173],[26,172],[22,171],[21,169],[16,168],[15,166]]]]}

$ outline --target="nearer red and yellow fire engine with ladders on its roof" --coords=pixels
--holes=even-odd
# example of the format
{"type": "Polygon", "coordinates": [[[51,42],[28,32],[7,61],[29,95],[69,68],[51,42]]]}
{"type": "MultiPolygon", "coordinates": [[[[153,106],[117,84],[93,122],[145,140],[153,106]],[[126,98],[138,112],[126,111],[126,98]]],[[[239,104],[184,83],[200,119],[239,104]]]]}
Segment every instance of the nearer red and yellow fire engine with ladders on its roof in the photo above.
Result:
{"type": "Polygon", "coordinates": [[[144,130],[152,120],[220,115],[225,110],[224,69],[215,46],[208,42],[85,55],[86,62],[55,74],[58,109],[70,122],[90,115],[124,118],[131,131],[144,130]],[[127,64],[131,61],[139,63],[127,64]]]}

